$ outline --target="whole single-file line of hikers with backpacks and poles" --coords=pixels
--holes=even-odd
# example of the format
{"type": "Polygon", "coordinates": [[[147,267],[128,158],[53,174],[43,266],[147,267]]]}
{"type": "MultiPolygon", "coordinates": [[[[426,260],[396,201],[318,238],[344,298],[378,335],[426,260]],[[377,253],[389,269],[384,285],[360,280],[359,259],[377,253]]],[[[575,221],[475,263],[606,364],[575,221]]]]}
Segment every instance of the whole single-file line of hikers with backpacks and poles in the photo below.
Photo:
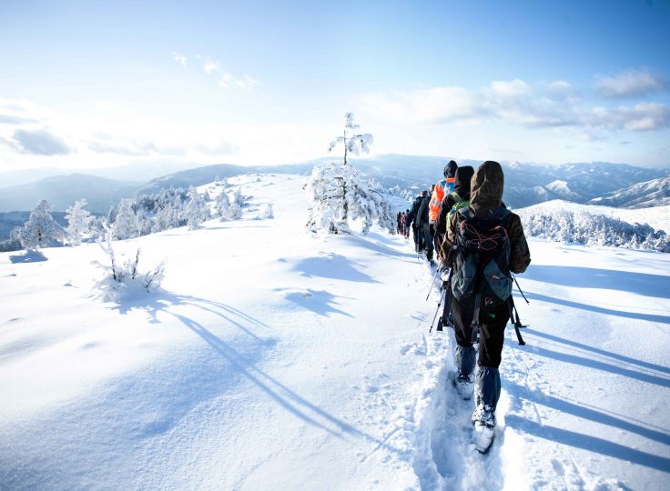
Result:
{"type": "Polygon", "coordinates": [[[497,162],[486,161],[475,170],[450,160],[431,191],[422,191],[397,215],[398,232],[409,240],[411,230],[417,255],[435,267],[433,285],[440,276],[441,295],[430,330],[443,308],[437,330],[448,326],[456,339],[450,380],[463,399],[474,396],[472,443],[482,454],[495,435],[508,321],[524,344],[513,275],[531,262],[521,219],[504,205],[503,188],[503,168],[497,162]]]}

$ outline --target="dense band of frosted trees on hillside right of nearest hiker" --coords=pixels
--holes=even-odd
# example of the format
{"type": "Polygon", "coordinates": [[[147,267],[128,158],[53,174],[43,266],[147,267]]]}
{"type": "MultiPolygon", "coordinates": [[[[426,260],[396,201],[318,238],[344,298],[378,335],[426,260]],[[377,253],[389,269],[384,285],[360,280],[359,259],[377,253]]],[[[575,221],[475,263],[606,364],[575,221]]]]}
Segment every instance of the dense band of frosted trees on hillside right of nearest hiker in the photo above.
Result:
{"type": "MultiPolygon", "coordinates": [[[[641,210],[643,213],[643,210],[641,210]]],[[[629,224],[587,208],[531,206],[517,211],[526,235],[567,244],[670,252],[670,237],[646,224],[629,224]]]]}

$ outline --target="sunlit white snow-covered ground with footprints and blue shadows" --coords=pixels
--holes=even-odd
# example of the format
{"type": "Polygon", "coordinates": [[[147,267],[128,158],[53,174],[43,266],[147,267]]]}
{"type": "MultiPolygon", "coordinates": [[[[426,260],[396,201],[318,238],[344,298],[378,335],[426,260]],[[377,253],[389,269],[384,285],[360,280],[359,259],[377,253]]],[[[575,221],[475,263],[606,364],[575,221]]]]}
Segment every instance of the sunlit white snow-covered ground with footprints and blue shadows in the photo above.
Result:
{"type": "Polygon", "coordinates": [[[96,296],[96,245],[0,254],[0,488],[668,488],[669,255],[530,241],[481,456],[411,245],[306,235],[298,176],[231,183],[242,220],[117,243],[167,259],[152,296],[96,296]]]}

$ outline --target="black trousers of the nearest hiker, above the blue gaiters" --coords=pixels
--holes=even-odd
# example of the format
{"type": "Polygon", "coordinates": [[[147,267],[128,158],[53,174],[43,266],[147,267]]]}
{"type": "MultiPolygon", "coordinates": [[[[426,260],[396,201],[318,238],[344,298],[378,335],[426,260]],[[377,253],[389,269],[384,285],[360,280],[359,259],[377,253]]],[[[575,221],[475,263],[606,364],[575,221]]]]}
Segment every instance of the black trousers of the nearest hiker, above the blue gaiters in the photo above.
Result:
{"type": "MultiPolygon", "coordinates": [[[[452,296],[453,326],[456,342],[460,346],[472,346],[472,317],[474,316],[474,297],[467,300],[456,300],[452,296]]],[[[477,365],[500,366],[505,326],[510,319],[507,304],[479,311],[480,340],[477,365]]]]}

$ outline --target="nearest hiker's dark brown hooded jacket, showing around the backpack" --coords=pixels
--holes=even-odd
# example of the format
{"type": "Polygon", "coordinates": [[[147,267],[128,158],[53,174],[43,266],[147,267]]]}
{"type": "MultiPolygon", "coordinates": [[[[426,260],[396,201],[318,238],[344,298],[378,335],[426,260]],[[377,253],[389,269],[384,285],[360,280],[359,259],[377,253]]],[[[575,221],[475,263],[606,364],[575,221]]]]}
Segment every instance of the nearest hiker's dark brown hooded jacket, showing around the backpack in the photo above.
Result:
{"type": "MultiPolygon", "coordinates": [[[[474,215],[485,217],[503,203],[504,175],[503,167],[497,162],[488,160],[479,166],[472,176],[470,188],[470,206],[474,215]]],[[[442,243],[442,257],[449,257],[452,246],[456,245],[456,232],[460,215],[455,213],[449,217],[447,235],[442,243]]],[[[510,235],[510,271],[523,273],[531,264],[531,252],[528,250],[526,237],[519,215],[507,215],[507,232],[510,235]]]]}

